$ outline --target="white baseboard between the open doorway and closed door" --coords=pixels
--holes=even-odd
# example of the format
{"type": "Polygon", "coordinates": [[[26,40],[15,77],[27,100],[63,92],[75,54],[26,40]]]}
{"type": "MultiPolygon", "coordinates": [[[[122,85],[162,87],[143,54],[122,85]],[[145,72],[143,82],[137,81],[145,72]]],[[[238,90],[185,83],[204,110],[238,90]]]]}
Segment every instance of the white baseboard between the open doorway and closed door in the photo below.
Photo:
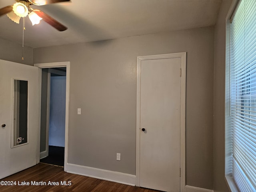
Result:
{"type": "Polygon", "coordinates": [[[135,186],[135,183],[136,183],[136,176],[131,174],[126,174],[126,173],[80,166],[80,165],[70,164],[70,163],[67,164],[66,170],[68,173],[122,183],[126,185],[131,185],[131,186],[135,186]]]}

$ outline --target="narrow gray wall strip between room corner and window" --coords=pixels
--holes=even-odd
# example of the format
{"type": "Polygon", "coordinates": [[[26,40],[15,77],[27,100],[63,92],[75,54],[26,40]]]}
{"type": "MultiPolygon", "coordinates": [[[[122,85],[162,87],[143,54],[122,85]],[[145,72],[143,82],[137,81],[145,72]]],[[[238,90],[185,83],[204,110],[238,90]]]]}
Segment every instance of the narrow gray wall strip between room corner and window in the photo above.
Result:
{"type": "Polygon", "coordinates": [[[232,0],[223,0],[215,27],[214,57],[214,191],[227,192],[225,182],[225,49],[226,15],[232,0]]]}

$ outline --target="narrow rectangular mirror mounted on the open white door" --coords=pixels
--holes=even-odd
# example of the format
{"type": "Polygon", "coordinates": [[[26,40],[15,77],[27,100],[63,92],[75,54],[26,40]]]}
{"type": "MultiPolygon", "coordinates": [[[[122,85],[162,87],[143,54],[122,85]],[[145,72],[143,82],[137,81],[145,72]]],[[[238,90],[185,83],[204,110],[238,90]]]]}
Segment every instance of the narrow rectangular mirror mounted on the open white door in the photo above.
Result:
{"type": "Polygon", "coordinates": [[[12,147],[28,142],[28,81],[14,79],[12,147]]]}

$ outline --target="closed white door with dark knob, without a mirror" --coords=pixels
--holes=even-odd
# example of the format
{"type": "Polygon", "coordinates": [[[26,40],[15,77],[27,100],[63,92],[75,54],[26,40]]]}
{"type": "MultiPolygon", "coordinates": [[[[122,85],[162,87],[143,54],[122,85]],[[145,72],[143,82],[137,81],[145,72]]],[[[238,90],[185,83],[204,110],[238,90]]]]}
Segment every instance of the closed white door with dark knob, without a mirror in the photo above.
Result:
{"type": "Polygon", "coordinates": [[[180,58],[141,62],[141,187],[180,191],[180,68],[180,58]]]}

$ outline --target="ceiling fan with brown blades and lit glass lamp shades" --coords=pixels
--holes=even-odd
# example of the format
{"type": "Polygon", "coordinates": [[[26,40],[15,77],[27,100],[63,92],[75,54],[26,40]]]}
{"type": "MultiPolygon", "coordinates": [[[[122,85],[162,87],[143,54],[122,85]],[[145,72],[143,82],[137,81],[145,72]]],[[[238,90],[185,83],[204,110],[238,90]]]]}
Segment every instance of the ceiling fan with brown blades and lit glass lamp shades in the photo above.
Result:
{"type": "Polygon", "coordinates": [[[7,16],[14,22],[19,23],[21,17],[26,17],[28,15],[32,25],[38,24],[40,20],[44,20],[46,23],[50,24],[59,31],[64,31],[67,29],[66,26],[62,25],[60,22],[42,12],[39,9],[32,9],[30,5],[46,5],[59,2],[68,2],[70,0],[16,0],[16,3],[12,6],[6,6],[0,9],[0,16],[7,14],[7,16]]]}

